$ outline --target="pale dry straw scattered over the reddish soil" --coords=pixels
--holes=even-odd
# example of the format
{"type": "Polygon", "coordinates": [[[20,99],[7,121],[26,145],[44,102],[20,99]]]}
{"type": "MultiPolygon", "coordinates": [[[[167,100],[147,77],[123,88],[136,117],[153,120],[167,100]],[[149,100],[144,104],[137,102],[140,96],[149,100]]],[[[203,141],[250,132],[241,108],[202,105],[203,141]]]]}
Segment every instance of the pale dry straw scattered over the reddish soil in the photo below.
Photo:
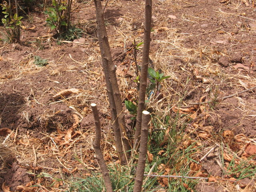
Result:
{"type": "MultiPolygon", "coordinates": [[[[108,2],[108,8],[114,8],[115,6],[120,6],[122,2],[116,0],[110,0],[108,2]]],[[[124,52],[130,48],[130,42],[135,39],[136,42],[142,42],[143,40],[143,30],[142,30],[142,15],[138,13],[142,12],[143,6],[142,2],[137,3],[137,12],[129,12],[126,10],[123,15],[116,18],[118,25],[108,27],[109,42],[111,48],[120,47],[124,52]],[[140,10],[139,10],[140,9],[140,10]],[[136,28],[134,30],[134,28],[136,28]]],[[[192,4],[192,3],[191,3],[192,4]]],[[[79,5],[77,3],[77,5],[79,5]]],[[[93,8],[93,2],[88,1],[86,6],[78,8],[81,11],[91,10],[93,8]]],[[[188,106],[189,102],[200,102],[202,96],[206,96],[206,100],[214,100],[218,96],[227,96],[240,90],[248,89],[256,84],[256,76],[254,72],[252,74],[244,73],[243,71],[238,71],[235,68],[230,67],[229,70],[221,68],[218,64],[216,57],[223,55],[230,55],[237,50],[233,50],[232,47],[226,48],[226,50],[219,51],[215,44],[197,44],[196,46],[189,47],[186,46],[187,38],[194,38],[202,36],[203,34],[215,34],[216,32],[221,32],[220,28],[206,30],[202,33],[195,32],[181,32],[182,29],[176,28],[170,25],[165,11],[166,6],[171,6],[173,11],[180,11],[184,9],[185,6],[180,1],[176,0],[174,2],[166,1],[166,4],[156,4],[158,11],[154,12],[154,15],[158,18],[156,23],[154,23],[152,29],[152,52],[150,52],[150,58],[154,61],[153,65],[156,70],[162,70],[166,76],[170,76],[162,82],[161,94],[162,98],[152,98],[147,104],[148,109],[152,109],[152,114],[155,116],[156,121],[160,123],[158,129],[166,129],[166,124],[164,124],[161,119],[165,119],[166,116],[174,116],[174,107],[188,106]],[[193,70],[198,71],[198,75],[206,78],[209,83],[204,84],[201,80],[196,80],[193,78],[193,70]],[[230,91],[227,92],[227,87],[230,91]],[[190,100],[190,95],[193,95],[196,100],[190,100]]],[[[192,4],[192,6],[198,6],[192,4]]],[[[223,7],[229,7],[232,10],[241,10],[242,3],[237,0],[230,0],[227,4],[221,4],[221,7],[216,14],[220,20],[230,20],[234,18],[245,19],[246,16],[241,16],[239,14],[226,13],[221,10],[223,7]]],[[[204,21],[203,16],[196,16],[192,13],[183,13],[180,16],[179,22],[180,26],[184,22],[189,24],[194,24],[200,21],[204,21]]],[[[81,24],[85,24],[84,28],[95,28],[95,20],[82,20],[81,24]]],[[[246,30],[245,24],[238,23],[241,30],[246,30]]],[[[223,32],[225,38],[229,39],[230,42],[237,42],[237,44],[246,44],[246,40],[236,41],[234,36],[230,32],[223,32]]],[[[92,36],[89,36],[92,38],[92,36]]],[[[249,40],[248,40],[249,41],[249,40]]],[[[89,44],[89,43],[88,43],[89,44]]],[[[16,45],[14,45],[16,46],[16,45]]],[[[36,45],[35,45],[36,46],[36,45]]],[[[108,111],[108,100],[106,97],[106,88],[104,86],[103,72],[102,68],[98,67],[100,63],[100,50],[96,42],[90,41],[90,44],[76,45],[77,47],[90,47],[90,53],[84,49],[84,56],[81,58],[75,58],[71,54],[59,54],[58,56],[49,57],[49,65],[45,68],[36,67],[33,64],[33,54],[27,54],[26,57],[16,62],[11,58],[6,58],[1,56],[2,61],[8,62],[11,68],[8,70],[3,70],[2,75],[5,78],[0,80],[0,84],[8,81],[9,76],[12,80],[19,80],[26,76],[33,76],[33,74],[38,74],[43,70],[47,70],[52,76],[63,76],[67,72],[80,72],[82,75],[77,77],[77,83],[72,85],[74,87],[83,86],[84,84],[90,84],[90,89],[83,90],[77,95],[69,96],[68,98],[62,98],[57,101],[50,102],[40,102],[40,99],[44,97],[44,94],[49,94],[50,90],[45,90],[40,95],[34,95],[31,89],[30,95],[25,99],[24,107],[20,108],[18,112],[24,114],[24,121],[30,124],[28,106],[32,106],[31,98],[42,107],[48,106],[42,114],[36,117],[39,124],[54,124],[53,130],[49,132],[41,133],[44,135],[42,138],[31,137],[33,130],[27,133],[18,133],[18,135],[9,137],[5,142],[2,139],[0,142],[4,143],[0,148],[1,162],[8,161],[8,150],[14,154],[16,161],[18,161],[23,166],[30,166],[31,174],[34,174],[34,170],[42,170],[42,172],[56,175],[62,175],[62,180],[65,181],[66,178],[63,174],[74,174],[76,176],[90,175],[90,170],[98,170],[97,163],[93,160],[93,148],[92,139],[94,137],[93,124],[89,126],[80,127],[82,121],[82,116],[90,115],[90,109],[88,108],[90,102],[99,101],[102,104],[101,111],[103,114],[110,116],[108,111]],[[68,61],[68,62],[67,62],[68,61]],[[63,64],[66,64],[66,71],[62,70],[63,64]],[[81,70],[82,68],[82,70],[81,70]],[[84,78],[86,76],[86,79],[84,78]],[[98,97],[100,96],[100,97],[98,97]],[[64,129],[61,123],[54,122],[54,118],[58,114],[55,108],[51,108],[56,103],[62,103],[68,106],[72,114],[75,114],[78,118],[78,126],[76,128],[64,129]],[[74,138],[72,138],[74,136],[74,138]],[[47,165],[47,166],[45,166],[47,165]],[[34,167],[34,168],[33,168],[34,167]],[[76,174],[77,173],[77,174],[76,174]]],[[[60,47],[50,48],[52,52],[58,52],[60,47]]],[[[243,48],[241,51],[244,51],[243,48]]],[[[7,50],[7,51],[12,51],[7,50]]],[[[3,53],[3,52],[2,52],[3,53]]],[[[140,63],[141,52],[138,52],[138,63],[140,63]]],[[[128,63],[128,70],[132,72],[135,76],[135,66],[133,64],[133,54],[128,52],[126,54],[126,59],[130,59],[128,63]]],[[[60,82],[56,78],[48,79],[48,82],[54,83],[51,89],[51,94],[56,94],[60,90],[63,90],[64,86],[60,86],[60,82]]],[[[30,82],[31,83],[31,82],[30,82]]],[[[132,90],[135,88],[132,78],[124,78],[119,76],[120,92],[122,94],[122,99],[126,99],[127,90],[132,90]]],[[[19,93],[18,90],[14,90],[19,93]]],[[[136,92],[133,95],[136,98],[136,92]]],[[[256,116],[256,111],[252,103],[250,103],[243,96],[236,96],[235,99],[238,101],[237,108],[242,110],[241,116],[243,118],[248,118],[256,116]]],[[[219,103],[220,104],[220,103],[219,103]]],[[[222,105],[227,107],[230,105],[228,102],[221,102],[222,105]]],[[[186,125],[186,137],[180,140],[181,143],[188,142],[188,140],[193,139],[198,145],[201,146],[200,150],[193,154],[194,160],[202,161],[202,157],[206,155],[214,146],[212,150],[212,155],[217,156],[218,164],[225,170],[222,158],[223,154],[231,154],[235,157],[237,162],[243,160],[242,154],[236,154],[234,151],[230,150],[230,142],[238,142],[241,149],[247,143],[256,144],[255,138],[248,138],[245,135],[234,135],[232,138],[229,136],[223,136],[221,132],[214,132],[213,128],[205,129],[206,119],[209,116],[214,116],[214,112],[211,111],[212,106],[204,106],[203,108],[197,107],[191,113],[186,113],[186,116],[179,116],[178,121],[176,121],[176,127],[180,128],[184,124],[186,125]],[[190,121],[193,118],[194,120],[190,121]]],[[[218,115],[218,114],[217,114],[218,115]]],[[[72,116],[68,120],[74,122],[72,116]]],[[[116,159],[116,154],[114,151],[114,146],[112,142],[112,131],[110,129],[110,120],[102,120],[102,126],[104,128],[104,134],[102,138],[102,144],[104,144],[104,156],[107,160],[116,159]]],[[[151,131],[154,129],[152,128],[151,131]]],[[[15,133],[14,133],[15,134],[15,133]]],[[[185,148],[182,146],[181,148],[185,148]]],[[[206,158],[206,157],[205,157],[206,158]]],[[[241,191],[245,190],[253,191],[255,186],[246,186],[246,188],[237,189],[232,182],[227,182],[226,180],[219,180],[216,182],[219,185],[224,186],[224,189],[228,191],[241,191]]],[[[49,183],[48,183],[49,184],[49,183]]],[[[65,186],[65,185],[64,185],[65,186]]],[[[66,187],[55,188],[54,190],[64,190],[66,187]]],[[[202,187],[204,188],[204,186],[202,187]]],[[[49,190],[53,188],[49,187],[49,190]]],[[[203,191],[203,189],[202,189],[203,191]]]]}

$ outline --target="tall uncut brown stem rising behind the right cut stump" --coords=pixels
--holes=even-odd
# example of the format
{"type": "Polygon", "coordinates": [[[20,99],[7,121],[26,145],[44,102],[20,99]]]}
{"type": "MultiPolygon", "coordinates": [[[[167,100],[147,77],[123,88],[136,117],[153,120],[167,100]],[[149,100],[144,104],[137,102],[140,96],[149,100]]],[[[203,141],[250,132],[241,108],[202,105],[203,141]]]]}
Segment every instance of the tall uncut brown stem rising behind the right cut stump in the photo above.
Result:
{"type": "Polygon", "coordinates": [[[151,33],[151,20],[152,20],[152,0],[145,0],[145,21],[144,21],[144,46],[142,52],[142,68],[140,74],[140,90],[136,120],[136,131],[134,134],[134,145],[138,148],[140,143],[140,131],[142,122],[142,111],[145,108],[145,96],[148,77],[148,59],[150,48],[150,33],[151,33]]]}

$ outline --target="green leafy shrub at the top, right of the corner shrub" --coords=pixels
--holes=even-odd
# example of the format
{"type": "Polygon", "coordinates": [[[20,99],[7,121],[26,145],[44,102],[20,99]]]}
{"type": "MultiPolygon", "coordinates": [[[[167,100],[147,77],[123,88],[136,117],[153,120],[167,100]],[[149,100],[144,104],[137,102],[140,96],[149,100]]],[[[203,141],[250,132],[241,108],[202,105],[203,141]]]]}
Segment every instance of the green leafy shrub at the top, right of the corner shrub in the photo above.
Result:
{"type": "Polygon", "coordinates": [[[47,24],[59,36],[71,28],[71,5],[72,0],[52,0],[52,7],[44,12],[48,15],[47,24]]]}

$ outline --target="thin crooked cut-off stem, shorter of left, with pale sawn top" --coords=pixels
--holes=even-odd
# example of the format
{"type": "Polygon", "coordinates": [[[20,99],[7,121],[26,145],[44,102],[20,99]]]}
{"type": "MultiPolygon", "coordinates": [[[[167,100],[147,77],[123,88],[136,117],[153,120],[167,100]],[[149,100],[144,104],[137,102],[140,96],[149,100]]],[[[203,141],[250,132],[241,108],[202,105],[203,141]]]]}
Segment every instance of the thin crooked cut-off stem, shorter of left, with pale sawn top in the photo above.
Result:
{"type": "Polygon", "coordinates": [[[96,104],[92,103],[92,112],[94,116],[94,122],[95,122],[95,139],[93,142],[93,147],[95,150],[96,159],[98,160],[98,163],[100,165],[100,169],[102,172],[102,177],[105,183],[106,191],[107,192],[114,192],[112,188],[112,183],[108,174],[108,168],[106,165],[106,162],[103,158],[102,151],[100,149],[100,139],[101,139],[101,130],[100,130],[100,118],[98,114],[98,109],[96,104]]]}

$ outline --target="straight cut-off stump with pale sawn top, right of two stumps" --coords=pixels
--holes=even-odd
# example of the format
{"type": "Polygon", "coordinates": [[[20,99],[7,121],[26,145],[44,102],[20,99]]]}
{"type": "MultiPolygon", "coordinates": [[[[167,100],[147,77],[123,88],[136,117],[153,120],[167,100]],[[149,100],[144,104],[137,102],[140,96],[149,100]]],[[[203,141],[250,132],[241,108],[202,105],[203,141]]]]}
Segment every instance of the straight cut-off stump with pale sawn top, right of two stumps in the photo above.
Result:
{"type": "Polygon", "coordinates": [[[148,111],[143,111],[142,124],[141,124],[140,153],[139,153],[139,160],[138,160],[133,192],[141,192],[142,182],[144,178],[145,164],[146,164],[147,147],[148,147],[149,119],[150,119],[150,113],[148,111]]]}

